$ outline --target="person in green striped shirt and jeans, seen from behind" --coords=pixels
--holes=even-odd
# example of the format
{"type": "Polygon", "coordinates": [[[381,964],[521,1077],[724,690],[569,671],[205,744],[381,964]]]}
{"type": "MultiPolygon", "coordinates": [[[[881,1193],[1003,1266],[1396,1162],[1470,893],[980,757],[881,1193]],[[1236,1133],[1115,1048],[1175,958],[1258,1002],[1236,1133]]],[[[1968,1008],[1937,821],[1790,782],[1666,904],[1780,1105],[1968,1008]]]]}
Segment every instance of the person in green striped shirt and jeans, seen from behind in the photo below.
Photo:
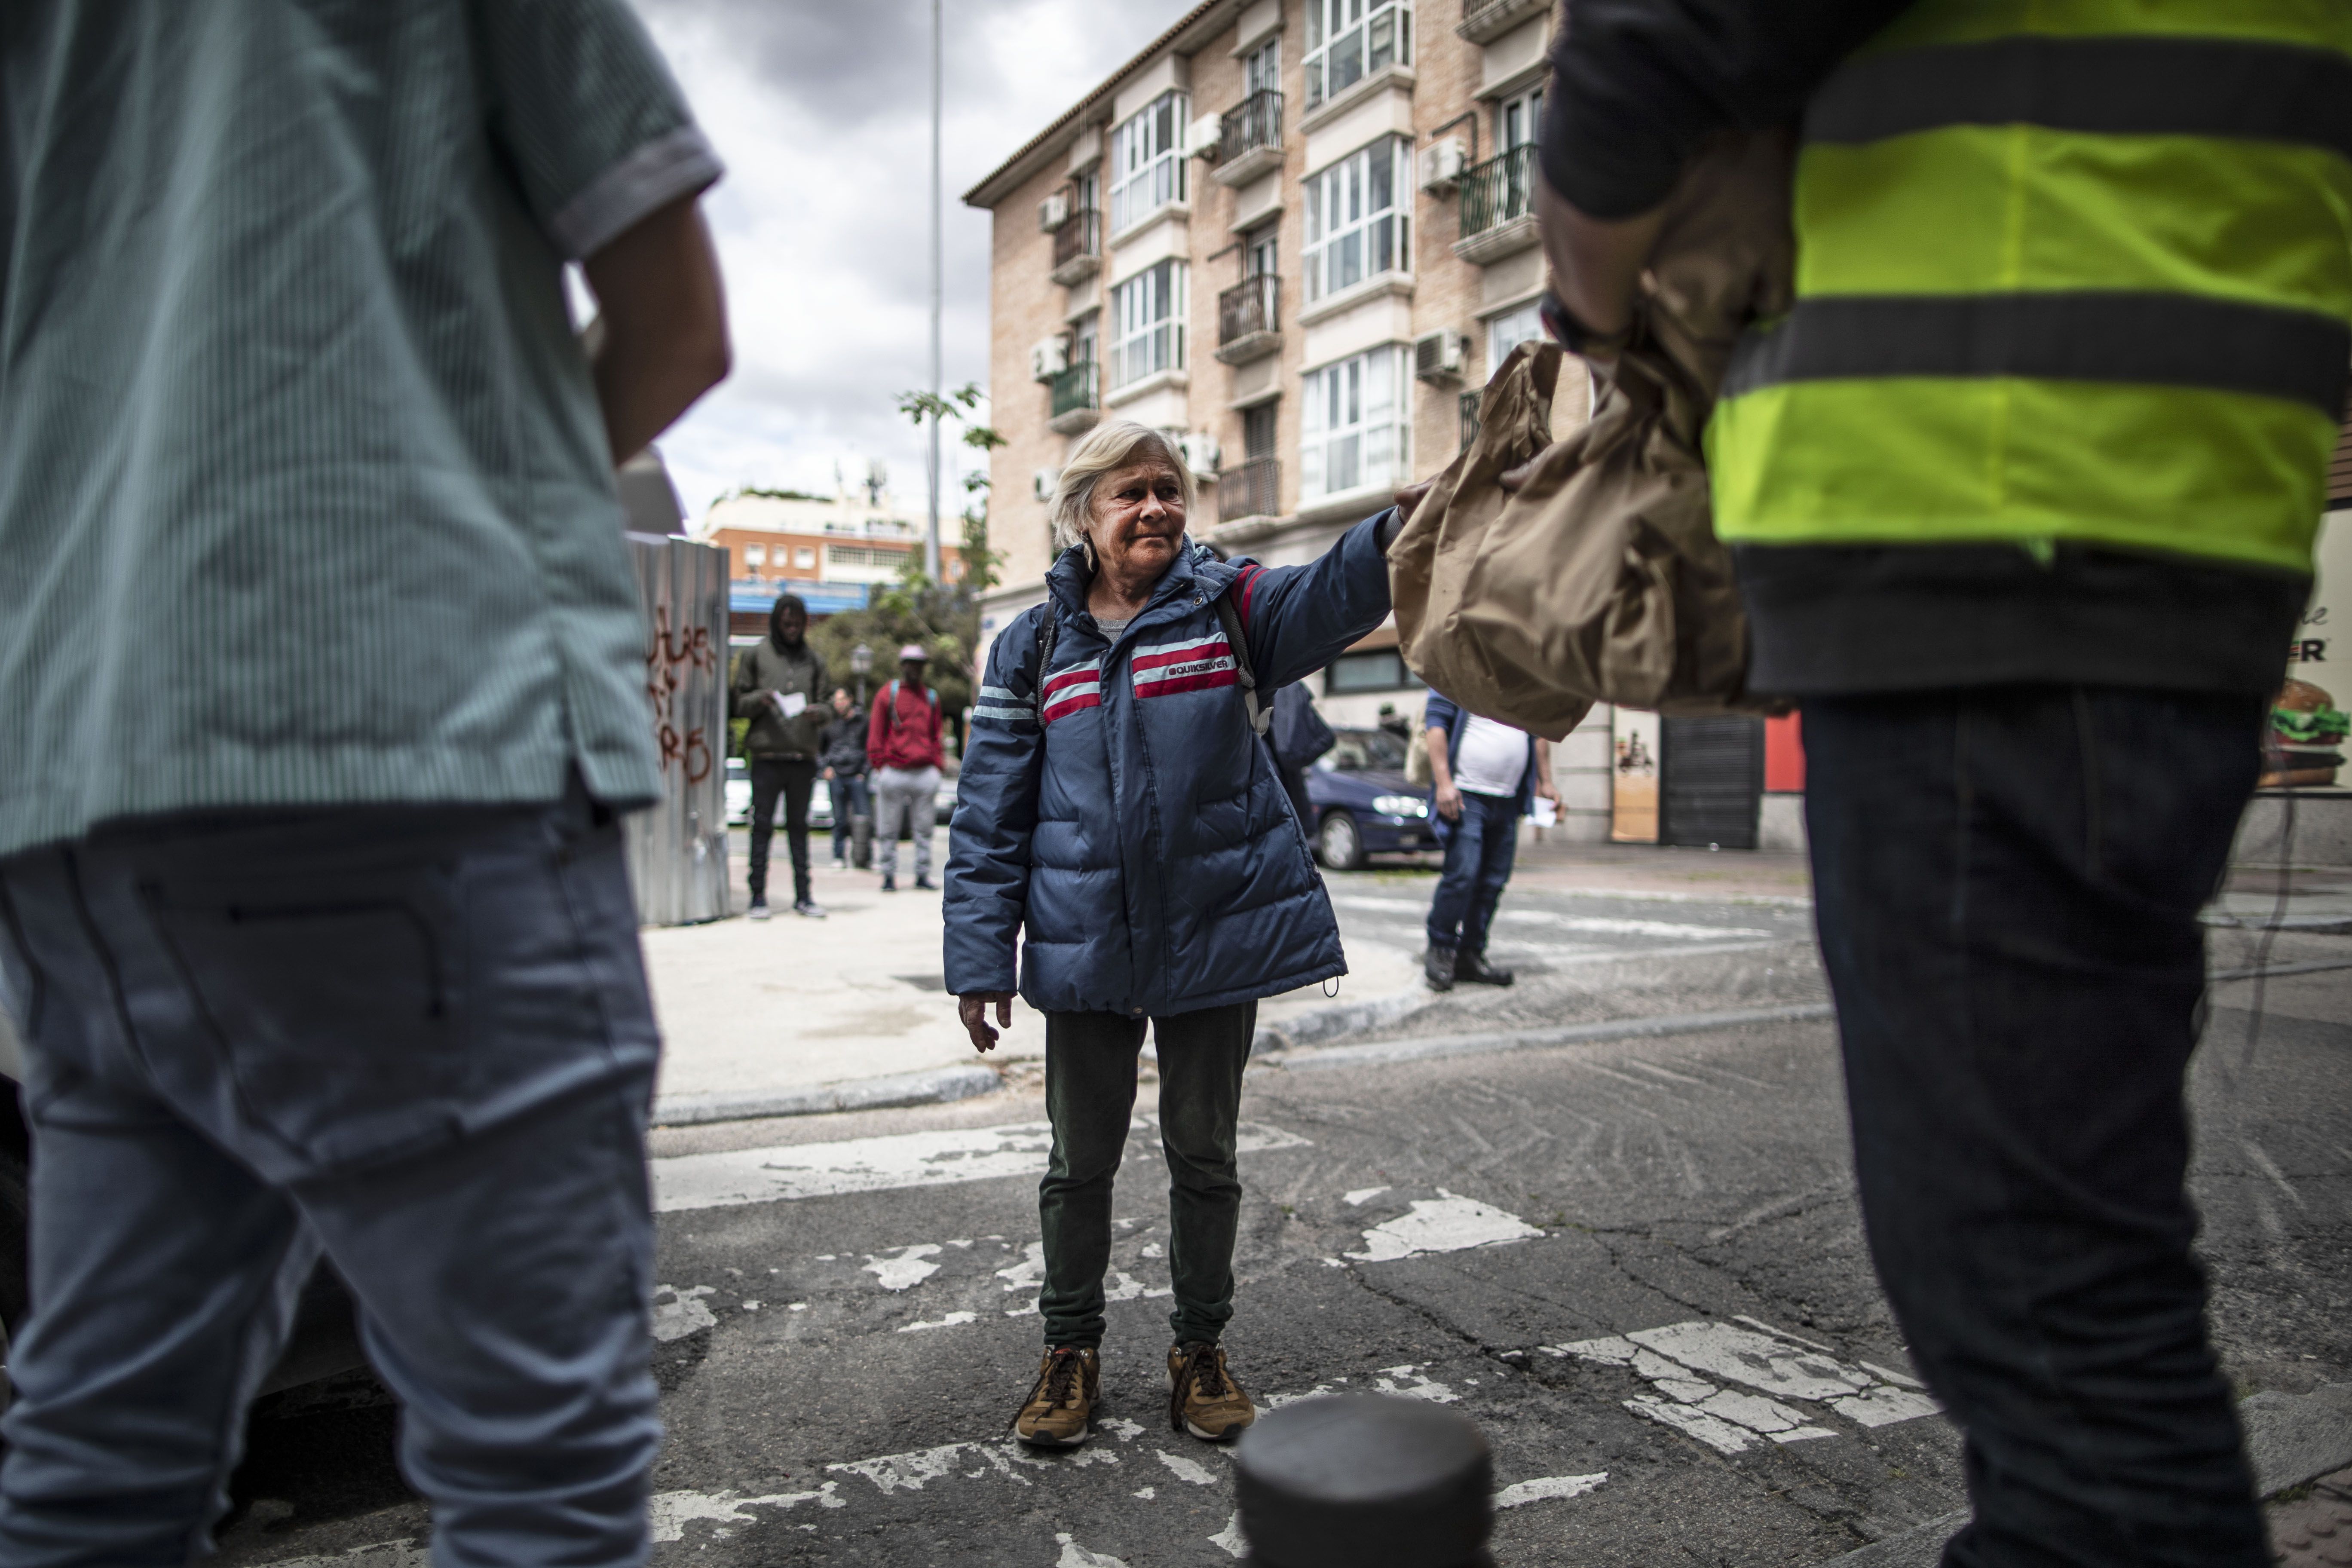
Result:
{"type": "Polygon", "coordinates": [[[717,174],[626,0],[0,7],[0,1561],[205,1556],[320,1253],[435,1563],[647,1559],[614,465],[717,174]]]}

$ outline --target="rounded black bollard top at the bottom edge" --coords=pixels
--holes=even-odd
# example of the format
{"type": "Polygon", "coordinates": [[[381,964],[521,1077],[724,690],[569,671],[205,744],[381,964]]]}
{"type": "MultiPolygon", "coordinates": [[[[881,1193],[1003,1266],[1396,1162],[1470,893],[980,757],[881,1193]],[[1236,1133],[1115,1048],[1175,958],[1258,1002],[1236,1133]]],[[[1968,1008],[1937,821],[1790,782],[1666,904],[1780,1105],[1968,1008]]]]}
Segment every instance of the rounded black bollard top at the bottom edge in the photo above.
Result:
{"type": "Polygon", "coordinates": [[[1463,1415],[1395,1394],[1303,1399],[1232,1453],[1251,1568],[1491,1566],[1494,1455],[1463,1415]]]}

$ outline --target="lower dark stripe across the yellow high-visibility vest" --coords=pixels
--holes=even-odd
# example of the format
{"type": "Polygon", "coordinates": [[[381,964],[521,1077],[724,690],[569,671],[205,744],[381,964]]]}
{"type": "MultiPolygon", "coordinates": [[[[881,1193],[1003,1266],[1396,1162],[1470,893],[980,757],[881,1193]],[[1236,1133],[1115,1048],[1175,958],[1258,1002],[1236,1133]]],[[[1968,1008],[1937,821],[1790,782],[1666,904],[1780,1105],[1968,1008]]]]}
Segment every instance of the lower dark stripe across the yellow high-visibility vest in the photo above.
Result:
{"type": "Polygon", "coordinates": [[[2190,294],[1804,299],[1740,341],[1724,397],[1886,376],[2187,386],[2307,402],[2336,418],[2352,378],[2352,327],[2190,294]]]}

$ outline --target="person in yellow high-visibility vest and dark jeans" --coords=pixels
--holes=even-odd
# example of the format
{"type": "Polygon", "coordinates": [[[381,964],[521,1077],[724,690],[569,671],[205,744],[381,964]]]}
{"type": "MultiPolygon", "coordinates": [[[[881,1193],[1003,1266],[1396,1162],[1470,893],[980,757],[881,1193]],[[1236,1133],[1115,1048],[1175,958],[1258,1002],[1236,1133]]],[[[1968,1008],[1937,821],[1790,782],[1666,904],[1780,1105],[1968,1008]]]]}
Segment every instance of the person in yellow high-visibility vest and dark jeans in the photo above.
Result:
{"type": "Polygon", "coordinates": [[[1966,1432],[1943,1561],[2267,1563],[2183,1084],[2352,364],[2352,5],[1566,0],[1552,63],[1595,360],[1691,155],[1802,127],[1708,456],[1872,1255],[1966,1432]]]}

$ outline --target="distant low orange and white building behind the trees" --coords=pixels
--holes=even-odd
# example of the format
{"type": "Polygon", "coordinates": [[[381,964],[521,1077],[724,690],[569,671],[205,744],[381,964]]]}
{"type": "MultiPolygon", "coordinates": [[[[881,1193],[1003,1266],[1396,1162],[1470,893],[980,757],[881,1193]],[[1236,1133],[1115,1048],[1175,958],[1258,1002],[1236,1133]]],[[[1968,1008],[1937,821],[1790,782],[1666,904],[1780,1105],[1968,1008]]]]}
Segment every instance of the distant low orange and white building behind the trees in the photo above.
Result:
{"type": "MultiPolygon", "coordinates": [[[[941,531],[948,527],[943,520],[941,531]]],[[[727,550],[731,630],[757,639],[783,592],[797,592],[811,618],[863,609],[870,585],[894,583],[908,562],[922,559],[924,522],[870,482],[842,484],[833,496],[727,496],[687,531],[727,550]]],[[[941,541],[938,571],[950,583],[964,576],[964,552],[941,541]]]]}

